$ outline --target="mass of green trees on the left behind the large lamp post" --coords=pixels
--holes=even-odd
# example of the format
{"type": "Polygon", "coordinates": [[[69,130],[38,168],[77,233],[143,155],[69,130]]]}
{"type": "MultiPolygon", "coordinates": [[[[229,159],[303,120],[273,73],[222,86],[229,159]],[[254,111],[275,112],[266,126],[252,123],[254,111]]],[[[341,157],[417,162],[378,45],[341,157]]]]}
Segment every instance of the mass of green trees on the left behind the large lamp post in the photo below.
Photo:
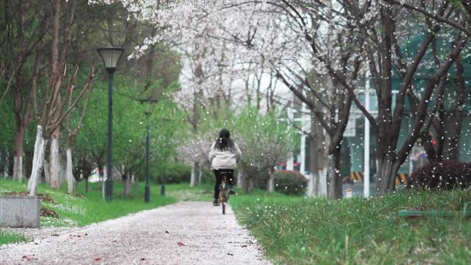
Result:
{"type": "MultiPolygon", "coordinates": [[[[178,128],[184,123],[172,97],[180,86],[180,57],[167,45],[154,43],[149,45],[145,57],[127,59],[135,45],[142,43],[154,27],[139,23],[120,4],[91,7],[85,0],[2,1],[0,6],[1,10],[8,11],[0,12],[1,28],[6,29],[0,35],[8,39],[0,43],[0,110],[5,114],[0,119],[1,176],[17,180],[31,176],[32,160],[36,156],[36,125],[51,120],[44,118],[41,112],[46,109],[46,101],[52,102],[46,100],[52,95],[49,92],[52,87],[58,98],[52,109],[65,112],[70,104],[67,102],[70,87],[76,87],[70,97],[74,102],[85,84],[90,85],[89,89],[54,131],[58,135],[54,137],[59,138],[59,147],[54,149],[57,152],[50,151],[51,141],[46,141],[43,178],[50,180],[53,156],[54,160],[59,160],[61,168],[65,165],[66,149],[72,151],[76,180],[90,174],[81,171],[83,168],[98,168],[101,174],[105,173],[108,76],[96,47],[110,45],[125,49],[114,73],[115,177],[144,178],[147,127],[151,165],[173,158],[178,128]],[[115,30],[109,32],[109,25],[115,30]],[[57,72],[54,65],[58,61],[63,81],[53,85],[57,72]],[[89,80],[92,69],[94,75],[89,80]],[[89,96],[90,99],[85,100],[89,96]]],[[[52,119],[56,117],[52,115],[52,119]]],[[[45,140],[48,137],[45,135],[45,140]]],[[[63,182],[64,175],[61,170],[59,182],[63,182]]]]}

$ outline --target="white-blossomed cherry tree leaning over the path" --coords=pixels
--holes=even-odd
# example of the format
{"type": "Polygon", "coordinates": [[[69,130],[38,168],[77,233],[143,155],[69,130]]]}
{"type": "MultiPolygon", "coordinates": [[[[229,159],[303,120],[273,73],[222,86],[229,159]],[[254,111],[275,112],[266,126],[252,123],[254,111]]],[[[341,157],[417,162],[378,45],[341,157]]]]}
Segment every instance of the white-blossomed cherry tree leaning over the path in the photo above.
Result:
{"type": "MultiPolygon", "coordinates": [[[[275,76],[282,81],[297,97],[304,100],[310,109],[315,109],[319,105],[313,111],[317,118],[323,116],[320,110],[324,107],[322,103],[325,105],[326,98],[330,98],[331,105],[326,109],[331,112],[331,119],[329,122],[324,118],[320,121],[333,139],[330,150],[331,153],[335,153],[335,158],[332,160],[337,162],[330,167],[332,177],[329,183],[332,183],[330,185],[333,189],[332,197],[338,198],[342,195],[338,169],[339,146],[341,146],[339,143],[342,142],[352,100],[343,89],[337,89],[336,92],[327,95],[328,89],[316,92],[313,89],[314,85],[307,81],[308,72],[318,63],[317,60],[314,61],[315,56],[311,51],[313,46],[306,42],[304,28],[296,28],[299,23],[298,18],[284,14],[286,3],[280,3],[282,6],[266,3],[247,4],[244,1],[217,1],[214,5],[208,6],[207,3],[200,1],[174,1],[165,9],[156,8],[155,5],[161,5],[158,2],[154,5],[146,2],[141,6],[127,2],[124,4],[129,10],[138,12],[143,19],[164,29],[159,36],[149,37],[147,42],[136,50],[135,56],[142,54],[149,44],[163,39],[176,43],[177,49],[180,49],[180,53],[185,56],[188,70],[185,71],[184,67],[180,78],[182,89],[179,96],[191,98],[182,100],[185,103],[193,102],[193,106],[188,107],[193,111],[188,120],[195,132],[198,128],[198,113],[205,111],[204,98],[233,96],[231,89],[235,81],[242,80],[246,83],[246,93],[249,80],[257,83],[255,104],[260,107],[260,76],[264,72],[269,72],[271,77],[275,76]],[[251,79],[253,72],[255,78],[251,79]],[[303,92],[304,89],[308,94],[303,92]],[[224,94],[224,90],[227,94],[224,94]],[[341,103],[339,106],[342,117],[336,117],[338,111],[335,105],[338,103],[341,103]]],[[[313,34],[316,27],[318,25],[312,25],[313,34]]],[[[343,39],[346,40],[346,37],[343,39]]],[[[324,47],[329,46],[324,45],[324,47]]],[[[339,58],[338,61],[343,60],[344,70],[347,70],[346,65],[350,59],[357,60],[352,53],[344,52],[343,57],[338,54],[339,52],[334,57],[339,58]]],[[[353,62],[353,65],[357,66],[353,68],[353,71],[357,72],[359,64],[353,62]]],[[[355,79],[355,76],[352,77],[355,79]]],[[[273,98],[273,94],[271,97],[273,98]]],[[[247,101],[249,103],[251,101],[249,93],[247,101]]],[[[319,178],[318,173],[321,171],[315,172],[315,176],[319,178]]]]}

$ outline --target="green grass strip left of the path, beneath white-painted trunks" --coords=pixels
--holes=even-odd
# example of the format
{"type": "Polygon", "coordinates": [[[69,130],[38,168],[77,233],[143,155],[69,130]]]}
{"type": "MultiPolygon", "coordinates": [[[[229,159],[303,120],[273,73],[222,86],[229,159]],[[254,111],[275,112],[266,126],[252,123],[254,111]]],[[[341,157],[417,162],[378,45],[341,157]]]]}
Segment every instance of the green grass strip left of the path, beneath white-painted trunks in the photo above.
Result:
{"type": "MultiPolygon", "coordinates": [[[[26,189],[25,182],[0,180],[0,193],[26,191],[26,189]]],[[[177,201],[171,196],[160,196],[160,186],[152,186],[150,203],[145,203],[143,183],[135,183],[131,197],[123,198],[123,184],[115,182],[114,197],[109,203],[102,198],[99,183],[90,183],[89,191],[85,193],[85,183],[79,182],[76,195],[68,195],[63,189],[56,190],[40,184],[38,193],[48,195],[53,200],[53,202],[43,200],[41,207],[55,211],[59,215],[59,218],[42,217],[41,226],[85,226],[177,201]]]]}

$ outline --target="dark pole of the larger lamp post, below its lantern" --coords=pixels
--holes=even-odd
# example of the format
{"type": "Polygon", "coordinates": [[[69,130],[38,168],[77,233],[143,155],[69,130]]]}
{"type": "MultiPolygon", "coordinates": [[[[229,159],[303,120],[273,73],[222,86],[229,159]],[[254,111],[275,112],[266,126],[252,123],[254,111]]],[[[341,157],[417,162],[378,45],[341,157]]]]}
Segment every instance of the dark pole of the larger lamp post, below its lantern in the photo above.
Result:
{"type": "Polygon", "coordinates": [[[105,181],[105,198],[113,198],[113,71],[108,71],[108,157],[107,178],[105,181]]]}

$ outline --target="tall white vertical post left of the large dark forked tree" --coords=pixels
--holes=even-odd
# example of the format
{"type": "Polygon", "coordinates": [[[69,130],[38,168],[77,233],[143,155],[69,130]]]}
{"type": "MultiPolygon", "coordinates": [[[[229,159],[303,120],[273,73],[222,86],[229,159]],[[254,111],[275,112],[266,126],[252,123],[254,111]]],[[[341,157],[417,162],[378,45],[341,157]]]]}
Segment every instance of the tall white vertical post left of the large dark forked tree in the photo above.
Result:
{"type": "MultiPolygon", "coordinates": [[[[370,75],[366,73],[365,81],[365,109],[370,111],[370,75]]],[[[370,197],[370,121],[365,116],[364,132],[364,186],[363,194],[365,198],[370,197]]]]}

